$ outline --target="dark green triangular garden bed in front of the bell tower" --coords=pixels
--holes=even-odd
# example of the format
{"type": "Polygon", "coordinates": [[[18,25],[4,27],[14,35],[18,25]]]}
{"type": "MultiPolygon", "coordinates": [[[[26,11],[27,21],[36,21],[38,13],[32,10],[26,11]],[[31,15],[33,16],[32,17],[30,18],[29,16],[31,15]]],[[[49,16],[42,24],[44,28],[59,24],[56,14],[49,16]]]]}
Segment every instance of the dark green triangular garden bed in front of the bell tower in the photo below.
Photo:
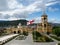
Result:
{"type": "Polygon", "coordinates": [[[34,42],[53,42],[52,39],[47,36],[41,35],[39,32],[33,32],[33,41],[34,42]]]}

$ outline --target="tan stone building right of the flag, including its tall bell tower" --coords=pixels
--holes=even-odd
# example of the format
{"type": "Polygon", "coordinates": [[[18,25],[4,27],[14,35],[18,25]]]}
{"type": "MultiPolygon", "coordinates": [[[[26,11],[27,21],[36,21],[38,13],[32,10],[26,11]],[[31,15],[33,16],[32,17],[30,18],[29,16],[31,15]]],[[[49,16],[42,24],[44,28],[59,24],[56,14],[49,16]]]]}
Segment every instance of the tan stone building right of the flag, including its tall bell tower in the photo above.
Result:
{"type": "Polygon", "coordinates": [[[41,16],[41,23],[37,25],[37,31],[43,33],[51,33],[52,32],[52,25],[48,23],[48,16],[43,14],[41,16]]]}

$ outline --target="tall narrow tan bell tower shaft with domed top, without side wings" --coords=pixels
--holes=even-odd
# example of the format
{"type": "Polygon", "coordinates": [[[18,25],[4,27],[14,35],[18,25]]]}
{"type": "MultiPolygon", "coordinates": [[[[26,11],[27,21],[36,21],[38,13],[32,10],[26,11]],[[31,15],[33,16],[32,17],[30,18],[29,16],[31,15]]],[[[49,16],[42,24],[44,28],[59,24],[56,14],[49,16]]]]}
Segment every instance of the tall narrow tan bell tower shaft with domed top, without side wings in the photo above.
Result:
{"type": "Polygon", "coordinates": [[[42,32],[43,33],[47,33],[48,19],[47,19],[47,15],[46,14],[43,14],[41,16],[41,23],[42,23],[42,32]]]}

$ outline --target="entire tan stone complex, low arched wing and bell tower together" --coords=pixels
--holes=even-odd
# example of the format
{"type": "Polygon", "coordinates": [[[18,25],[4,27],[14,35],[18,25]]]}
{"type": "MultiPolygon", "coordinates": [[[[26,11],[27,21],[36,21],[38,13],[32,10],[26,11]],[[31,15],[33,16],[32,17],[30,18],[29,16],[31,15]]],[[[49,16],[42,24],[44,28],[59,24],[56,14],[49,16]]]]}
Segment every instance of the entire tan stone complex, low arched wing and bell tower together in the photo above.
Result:
{"type": "Polygon", "coordinates": [[[41,23],[37,24],[37,28],[35,29],[32,29],[31,27],[28,26],[21,26],[21,24],[19,24],[16,28],[15,27],[7,28],[6,32],[8,34],[11,34],[11,33],[23,33],[23,31],[32,32],[34,30],[43,33],[52,32],[52,25],[48,23],[48,16],[46,14],[43,14],[41,16],[41,23]]]}

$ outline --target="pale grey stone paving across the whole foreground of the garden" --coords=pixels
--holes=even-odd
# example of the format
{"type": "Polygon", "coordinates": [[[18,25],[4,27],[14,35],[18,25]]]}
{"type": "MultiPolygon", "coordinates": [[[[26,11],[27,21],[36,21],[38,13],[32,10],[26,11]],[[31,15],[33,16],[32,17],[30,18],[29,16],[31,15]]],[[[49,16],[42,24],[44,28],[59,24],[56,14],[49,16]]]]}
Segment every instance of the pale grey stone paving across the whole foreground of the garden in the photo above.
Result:
{"type": "Polygon", "coordinates": [[[10,41],[4,45],[57,45],[57,42],[36,43],[36,42],[33,42],[32,34],[29,34],[29,36],[27,36],[27,38],[25,40],[13,39],[12,41],[10,41]]]}

